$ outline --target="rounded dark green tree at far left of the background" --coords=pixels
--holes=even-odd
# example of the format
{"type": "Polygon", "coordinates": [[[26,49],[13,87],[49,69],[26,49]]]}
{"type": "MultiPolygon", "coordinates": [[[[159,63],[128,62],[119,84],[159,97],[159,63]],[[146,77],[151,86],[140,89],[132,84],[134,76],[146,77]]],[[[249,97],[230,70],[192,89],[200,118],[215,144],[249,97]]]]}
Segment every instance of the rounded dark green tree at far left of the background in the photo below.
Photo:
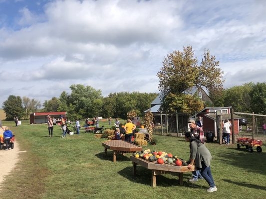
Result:
{"type": "Polygon", "coordinates": [[[22,107],[22,100],[19,96],[9,96],[7,100],[3,102],[3,110],[6,115],[6,120],[13,120],[15,116],[21,118],[24,110],[22,107]]]}

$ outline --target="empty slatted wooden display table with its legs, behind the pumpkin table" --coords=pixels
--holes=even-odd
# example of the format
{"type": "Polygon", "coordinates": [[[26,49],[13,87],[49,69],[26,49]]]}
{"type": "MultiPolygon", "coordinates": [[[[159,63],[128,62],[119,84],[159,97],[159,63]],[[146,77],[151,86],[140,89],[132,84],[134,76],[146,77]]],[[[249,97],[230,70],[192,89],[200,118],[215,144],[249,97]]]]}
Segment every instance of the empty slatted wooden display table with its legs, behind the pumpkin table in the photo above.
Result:
{"type": "Polygon", "coordinates": [[[102,143],[102,145],[104,146],[105,156],[107,155],[107,149],[114,151],[113,162],[116,162],[116,154],[133,153],[142,150],[142,147],[123,140],[111,140],[102,143]]]}

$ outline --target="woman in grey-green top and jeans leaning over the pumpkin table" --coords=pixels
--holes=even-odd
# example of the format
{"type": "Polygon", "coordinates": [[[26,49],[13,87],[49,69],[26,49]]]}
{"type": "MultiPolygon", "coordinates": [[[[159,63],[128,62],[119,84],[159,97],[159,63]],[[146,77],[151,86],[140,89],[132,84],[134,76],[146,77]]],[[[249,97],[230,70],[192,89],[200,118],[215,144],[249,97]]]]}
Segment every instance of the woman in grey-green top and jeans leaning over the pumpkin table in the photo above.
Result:
{"type": "Polygon", "coordinates": [[[188,169],[191,169],[191,167],[195,164],[195,167],[200,169],[201,175],[210,186],[207,192],[216,192],[217,188],[211,172],[212,155],[210,151],[193,135],[193,133],[186,133],[185,139],[190,142],[190,159],[188,169]]]}

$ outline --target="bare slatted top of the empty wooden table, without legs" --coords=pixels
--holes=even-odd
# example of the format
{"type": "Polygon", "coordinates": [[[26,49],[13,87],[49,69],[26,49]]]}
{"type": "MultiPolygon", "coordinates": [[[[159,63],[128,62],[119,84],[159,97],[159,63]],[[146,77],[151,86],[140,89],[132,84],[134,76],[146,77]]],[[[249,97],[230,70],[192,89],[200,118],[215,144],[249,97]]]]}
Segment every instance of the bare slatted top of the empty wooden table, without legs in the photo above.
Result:
{"type": "Polygon", "coordinates": [[[142,147],[126,142],[124,140],[111,140],[111,141],[106,141],[102,143],[102,145],[110,150],[116,150],[116,151],[128,151],[128,152],[133,152],[133,151],[141,151],[142,147]]]}

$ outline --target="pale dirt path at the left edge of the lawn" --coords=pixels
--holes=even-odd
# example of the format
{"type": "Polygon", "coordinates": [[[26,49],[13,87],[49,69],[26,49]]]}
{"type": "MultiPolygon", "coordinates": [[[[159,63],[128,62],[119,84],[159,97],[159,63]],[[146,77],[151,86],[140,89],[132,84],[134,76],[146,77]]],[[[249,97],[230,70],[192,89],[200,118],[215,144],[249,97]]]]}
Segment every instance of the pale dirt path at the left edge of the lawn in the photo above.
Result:
{"type": "Polygon", "coordinates": [[[14,148],[11,150],[0,150],[0,189],[7,175],[14,169],[19,161],[19,153],[24,152],[19,150],[18,142],[15,141],[14,148]]]}

